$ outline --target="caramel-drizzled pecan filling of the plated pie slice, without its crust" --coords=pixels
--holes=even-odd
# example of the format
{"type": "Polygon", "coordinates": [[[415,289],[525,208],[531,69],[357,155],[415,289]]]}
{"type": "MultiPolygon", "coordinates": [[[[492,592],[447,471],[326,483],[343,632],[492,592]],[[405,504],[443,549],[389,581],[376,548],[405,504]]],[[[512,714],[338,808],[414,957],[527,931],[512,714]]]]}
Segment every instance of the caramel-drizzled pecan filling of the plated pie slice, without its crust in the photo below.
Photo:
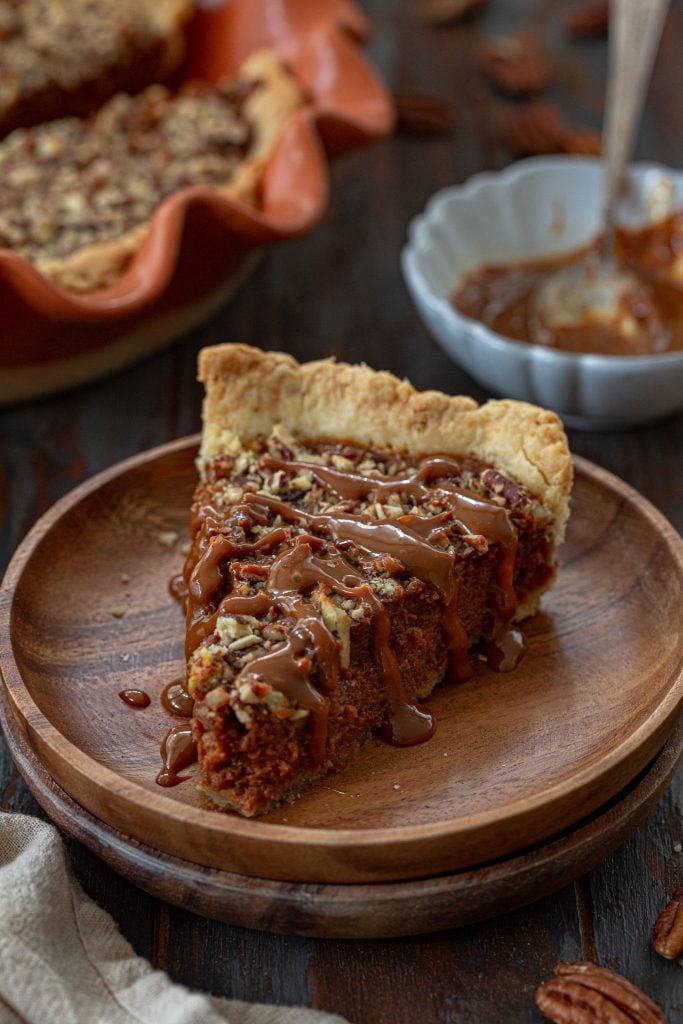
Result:
{"type": "Polygon", "coordinates": [[[198,754],[210,803],[265,813],[372,734],[428,739],[420,700],[471,675],[473,645],[518,663],[519,604],[554,574],[552,516],[497,469],[283,430],[204,469],[171,586],[194,715],[161,784],[198,754]]]}

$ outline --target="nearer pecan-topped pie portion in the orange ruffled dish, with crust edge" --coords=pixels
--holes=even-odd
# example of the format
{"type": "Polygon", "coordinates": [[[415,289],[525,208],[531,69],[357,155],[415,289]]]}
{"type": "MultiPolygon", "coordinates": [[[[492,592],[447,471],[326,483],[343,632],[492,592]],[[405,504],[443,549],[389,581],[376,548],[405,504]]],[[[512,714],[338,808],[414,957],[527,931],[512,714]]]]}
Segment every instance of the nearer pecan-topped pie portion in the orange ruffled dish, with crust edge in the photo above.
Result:
{"type": "Polygon", "coordinates": [[[17,129],[0,142],[0,246],[73,291],[125,270],[160,204],[189,185],[258,202],[266,158],[302,102],[280,58],[237,79],[119,93],[89,119],[17,129]]]}

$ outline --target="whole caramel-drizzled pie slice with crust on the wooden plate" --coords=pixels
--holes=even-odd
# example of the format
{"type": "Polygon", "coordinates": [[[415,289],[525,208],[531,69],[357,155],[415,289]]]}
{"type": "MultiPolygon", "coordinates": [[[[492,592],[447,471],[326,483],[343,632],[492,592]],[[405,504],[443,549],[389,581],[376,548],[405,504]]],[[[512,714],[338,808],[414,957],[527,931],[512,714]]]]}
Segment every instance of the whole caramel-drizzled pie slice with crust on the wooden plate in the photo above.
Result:
{"type": "Polygon", "coordinates": [[[369,736],[410,745],[443,678],[517,663],[555,573],[571,461],[558,418],[368,367],[205,349],[187,612],[201,790],[262,814],[369,736]]]}

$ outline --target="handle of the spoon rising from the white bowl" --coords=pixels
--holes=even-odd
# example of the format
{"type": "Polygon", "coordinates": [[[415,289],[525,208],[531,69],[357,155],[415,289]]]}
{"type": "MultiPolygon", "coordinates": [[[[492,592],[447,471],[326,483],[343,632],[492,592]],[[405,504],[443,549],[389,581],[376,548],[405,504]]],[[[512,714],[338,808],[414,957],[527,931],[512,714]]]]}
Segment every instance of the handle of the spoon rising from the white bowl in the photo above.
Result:
{"type": "Polygon", "coordinates": [[[661,35],[669,0],[610,0],[603,251],[613,261],[614,210],[661,35]]]}

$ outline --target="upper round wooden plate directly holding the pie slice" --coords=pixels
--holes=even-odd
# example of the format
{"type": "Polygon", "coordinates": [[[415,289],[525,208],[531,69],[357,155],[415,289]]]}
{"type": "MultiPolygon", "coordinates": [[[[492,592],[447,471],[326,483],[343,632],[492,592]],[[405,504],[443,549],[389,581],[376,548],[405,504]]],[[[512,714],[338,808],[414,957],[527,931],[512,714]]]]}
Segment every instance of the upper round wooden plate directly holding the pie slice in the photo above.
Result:
{"type": "Polygon", "coordinates": [[[27,537],[0,603],[0,666],[38,757],[97,818],[184,860],[261,878],[432,877],[548,840],[631,782],[670,734],[683,690],[683,553],[638,494],[577,461],[564,566],[527,626],[517,672],[443,686],[430,742],[369,743],[292,806],[245,820],[155,783],[182,668],[166,590],[195,484],[197,439],[113,467],[27,537]],[[122,582],[122,573],[130,578],[122,582]],[[122,617],[115,617],[124,610],[122,617]],[[144,711],[118,697],[136,686],[144,711]]]}

